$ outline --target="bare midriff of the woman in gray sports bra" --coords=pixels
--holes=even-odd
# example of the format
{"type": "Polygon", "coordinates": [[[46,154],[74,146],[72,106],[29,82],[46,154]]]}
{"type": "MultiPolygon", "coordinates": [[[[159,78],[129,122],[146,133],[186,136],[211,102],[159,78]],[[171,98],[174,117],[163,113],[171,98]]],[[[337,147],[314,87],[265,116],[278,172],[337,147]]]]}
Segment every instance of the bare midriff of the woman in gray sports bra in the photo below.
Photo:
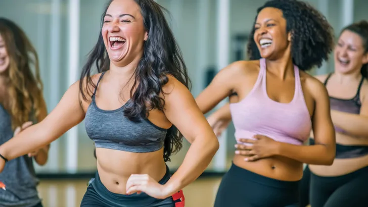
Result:
{"type": "Polygon", "coordinates": [[[96,154],[101,182],[113,193],[126,194],[131,174],[148,174],[158,182],[166,173],[163,148],[147,153],[96,148],[96,154]]]}

